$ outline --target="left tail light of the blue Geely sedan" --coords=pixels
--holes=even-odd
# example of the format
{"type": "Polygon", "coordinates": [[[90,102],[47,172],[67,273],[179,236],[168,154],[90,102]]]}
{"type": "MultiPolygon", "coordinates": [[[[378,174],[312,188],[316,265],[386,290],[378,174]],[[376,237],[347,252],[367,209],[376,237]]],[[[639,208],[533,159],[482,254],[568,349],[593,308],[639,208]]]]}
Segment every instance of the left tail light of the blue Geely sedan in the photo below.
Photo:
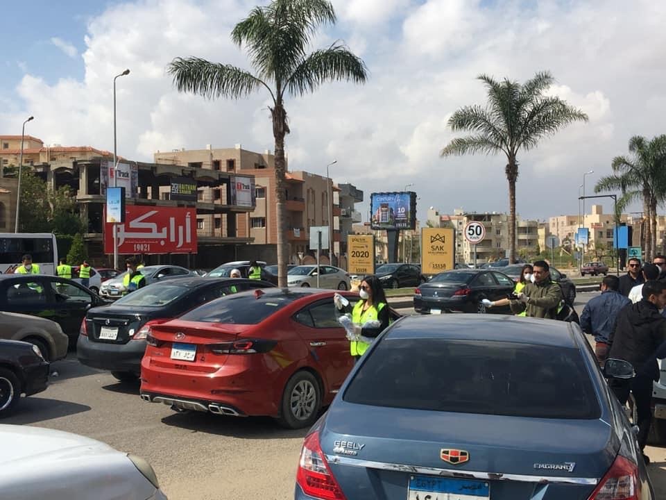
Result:
{"type": "Polygon", "coordinates": [[[310,497],[325,500],[345,500],[342,488],[335,480],[319,445],[319,433],[305,437],[300,452],[296,482],[310,497]]]}

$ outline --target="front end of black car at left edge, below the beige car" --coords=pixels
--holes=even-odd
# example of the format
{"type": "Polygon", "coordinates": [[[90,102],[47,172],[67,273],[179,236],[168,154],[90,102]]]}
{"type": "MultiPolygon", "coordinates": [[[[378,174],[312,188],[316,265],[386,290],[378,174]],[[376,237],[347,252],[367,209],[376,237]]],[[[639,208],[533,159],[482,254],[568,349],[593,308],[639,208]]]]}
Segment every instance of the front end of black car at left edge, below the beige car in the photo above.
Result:
{"type": "Polygon", "coordinates": [[[38,347],[18,340],[0,340],[0,418],[15,410],[21,394],[37,394],[47,385],[49,363],[38,347]]]}

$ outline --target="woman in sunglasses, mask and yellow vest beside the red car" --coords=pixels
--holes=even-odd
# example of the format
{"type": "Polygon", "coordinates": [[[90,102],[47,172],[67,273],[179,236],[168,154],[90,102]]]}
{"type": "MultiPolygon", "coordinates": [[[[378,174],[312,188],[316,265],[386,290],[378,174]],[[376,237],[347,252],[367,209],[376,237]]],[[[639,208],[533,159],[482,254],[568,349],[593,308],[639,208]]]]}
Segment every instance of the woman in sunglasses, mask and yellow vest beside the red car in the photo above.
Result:
{"type": "Polygon", "coordinates": [[[352,308],[349,301],[340,294],[334,294],[333,300],[340,313],[351,313],[354,333],[350,338],[350,353],[355,363],[363,356],[370,344],[379,333],[391,323],[390,309],[386,302],[386,294],[379,278],[366,276],[359,287],[359,300],[352,308]],[[345,305],[346,302],[346,305],[345,305]],[[367,326],[368,324],[372,326],[367,326]],[[379,324],[379,326],[375,326],[379,324]]]}

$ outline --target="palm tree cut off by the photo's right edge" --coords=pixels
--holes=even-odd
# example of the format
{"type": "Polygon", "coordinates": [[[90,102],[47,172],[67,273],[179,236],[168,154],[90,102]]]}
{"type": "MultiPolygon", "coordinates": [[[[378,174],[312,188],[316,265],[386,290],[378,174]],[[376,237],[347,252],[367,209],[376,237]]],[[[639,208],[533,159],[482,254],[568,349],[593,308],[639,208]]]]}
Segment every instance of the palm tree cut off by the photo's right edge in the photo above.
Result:
{"type": "Polygon", "coordinates": [[[613,174],[599,179],[595,192],[620,191],[617,211],[633,201],[643,203],[645,260],[656,252],[657,206],[666,199],[666,135],[648,141],[640,135],[629,140],[631,156],[616,156],[610,166],[613,174]]]}

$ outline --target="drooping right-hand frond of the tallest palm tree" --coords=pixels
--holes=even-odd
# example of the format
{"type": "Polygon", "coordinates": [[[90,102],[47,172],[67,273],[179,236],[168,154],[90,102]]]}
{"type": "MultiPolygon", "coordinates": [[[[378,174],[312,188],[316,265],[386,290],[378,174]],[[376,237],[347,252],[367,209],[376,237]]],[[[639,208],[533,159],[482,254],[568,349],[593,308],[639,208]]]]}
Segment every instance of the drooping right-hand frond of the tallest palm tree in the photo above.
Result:
{"type": "Polygon", "coordinates": [[[366,64],[342,44],[314,51],[307,56],[287,80],[286,88],[292,95],[314,92],[325,81],[353,81],[365,83],[368,78],[366,64]]]}

